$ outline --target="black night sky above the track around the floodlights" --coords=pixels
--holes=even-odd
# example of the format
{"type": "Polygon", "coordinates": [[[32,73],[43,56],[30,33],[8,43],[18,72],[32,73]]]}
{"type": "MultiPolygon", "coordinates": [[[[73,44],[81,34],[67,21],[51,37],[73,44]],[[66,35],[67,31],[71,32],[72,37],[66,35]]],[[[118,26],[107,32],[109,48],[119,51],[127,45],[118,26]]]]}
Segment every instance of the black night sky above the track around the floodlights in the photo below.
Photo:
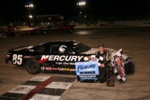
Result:
{"type": "Polygon", "coordinates": [[[0,18],[21,20],[28,15],[26,4],[34,4],[32,14],[60,14],[64,18],[77,16],[82,9],[87,15],[98,16],[150,16],[150,0],[85,0],[84,8],[79,0],[0,0],[0,18]]]}

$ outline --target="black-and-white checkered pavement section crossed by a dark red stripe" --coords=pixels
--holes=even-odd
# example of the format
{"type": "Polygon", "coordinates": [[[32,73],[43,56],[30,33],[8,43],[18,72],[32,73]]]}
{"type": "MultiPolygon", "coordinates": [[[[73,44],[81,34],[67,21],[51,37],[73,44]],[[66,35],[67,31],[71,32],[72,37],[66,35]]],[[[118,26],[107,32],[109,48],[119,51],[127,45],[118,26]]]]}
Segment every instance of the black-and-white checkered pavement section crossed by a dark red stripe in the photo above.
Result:
{"type": "Polygon", "coordinates": [[[76,78],[35,76],[0,95],[0,100],[59,100],[76,78]]]}

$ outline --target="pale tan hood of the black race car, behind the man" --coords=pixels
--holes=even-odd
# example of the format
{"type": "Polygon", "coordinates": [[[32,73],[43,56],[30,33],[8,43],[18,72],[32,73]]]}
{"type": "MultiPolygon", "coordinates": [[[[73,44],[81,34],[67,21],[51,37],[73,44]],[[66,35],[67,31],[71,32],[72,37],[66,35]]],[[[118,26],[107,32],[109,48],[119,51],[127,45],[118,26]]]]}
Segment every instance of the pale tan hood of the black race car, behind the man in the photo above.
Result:
{"type": "MultiPolygon", "coordinates": [[[[118,52],[118,50],[111,49],[111,48],[104,48],[104,49],[108,52],[111,52],[112,55],[115,55],[118,52]]],[[[94,55],[96,53],[96,51],[98,51],[98,48],[91,48],[90,50],[83,52],[81,54],[93,54],[94,55]]],[[[126,54],[122,54],[122,57],[124,59],[128,58],[128,56],[126,54]]]]}

